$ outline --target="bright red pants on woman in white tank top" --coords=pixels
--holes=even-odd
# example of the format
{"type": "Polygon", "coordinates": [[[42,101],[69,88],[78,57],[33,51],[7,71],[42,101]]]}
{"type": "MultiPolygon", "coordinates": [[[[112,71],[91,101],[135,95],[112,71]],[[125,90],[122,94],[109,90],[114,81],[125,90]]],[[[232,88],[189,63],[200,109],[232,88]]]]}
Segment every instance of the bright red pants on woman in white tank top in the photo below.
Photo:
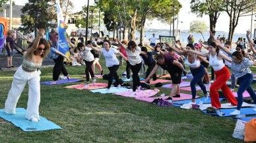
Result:
{"type": "Polygon", "coordinates": [[[238,101],[228,88],[226,81],[230,78],[230,71],[227,67],[223,67],[220,71],[214,71],[216,75],[216,80],[210,86],[210,100],[212,102],[212,107],[220,108],[220,100],[218,96],[218,90],[221,89],[227,100],[230,101],[232,105],[238,105],[238,101]]]}

